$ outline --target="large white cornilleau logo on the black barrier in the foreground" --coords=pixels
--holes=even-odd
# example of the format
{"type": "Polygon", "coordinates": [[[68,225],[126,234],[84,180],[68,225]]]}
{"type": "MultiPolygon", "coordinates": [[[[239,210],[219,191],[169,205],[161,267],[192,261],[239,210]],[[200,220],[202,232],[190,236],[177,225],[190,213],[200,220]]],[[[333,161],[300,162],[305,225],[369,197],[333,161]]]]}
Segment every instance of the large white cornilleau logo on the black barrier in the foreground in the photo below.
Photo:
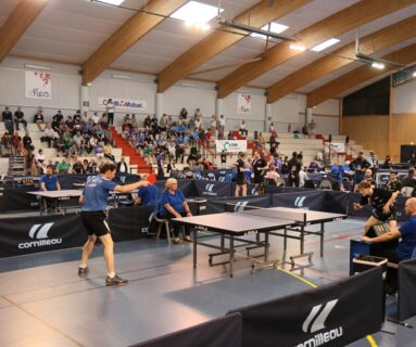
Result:
{"type": "MultiPolygon", "coordinates": [[[[316,305],[312,308],[310,314],[306,317],[302,324],[302,331],[307,334],[313,334],[325,329],[325,321],[329,313],[337,305],[338,299],[328,301],[326,304],[316,305]]],[[[332,339],[342,336],[342,326],[332,329],[330,331],[322,332],[305,340],[302,344],[298,344],[295,347],[317,347],[329,343],[332,339]]]]}

